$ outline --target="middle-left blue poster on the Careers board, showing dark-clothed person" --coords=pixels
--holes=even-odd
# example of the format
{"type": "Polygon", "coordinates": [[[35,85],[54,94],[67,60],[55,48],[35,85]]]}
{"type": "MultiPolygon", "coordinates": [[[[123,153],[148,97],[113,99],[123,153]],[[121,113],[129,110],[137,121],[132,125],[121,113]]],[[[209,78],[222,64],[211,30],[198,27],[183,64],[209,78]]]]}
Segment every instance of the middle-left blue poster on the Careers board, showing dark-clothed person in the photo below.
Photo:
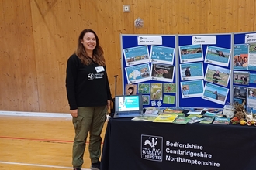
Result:
{"type": "Polygon", "coordinates": [[[183,63],[179,66],[182,80],[199,80],[204,78],[202,62],[183,63]]]}

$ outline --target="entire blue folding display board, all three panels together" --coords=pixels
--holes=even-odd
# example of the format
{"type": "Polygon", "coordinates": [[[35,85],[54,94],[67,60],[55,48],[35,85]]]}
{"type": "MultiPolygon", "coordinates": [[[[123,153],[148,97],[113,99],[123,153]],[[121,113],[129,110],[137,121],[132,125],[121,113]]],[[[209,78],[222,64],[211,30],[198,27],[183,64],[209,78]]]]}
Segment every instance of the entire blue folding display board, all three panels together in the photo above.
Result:
{"type": "Polygon", "coordinates": [[[121,35],[123,94],[144,107],[243,104],[256,113],[256,32],[121,35]]]}

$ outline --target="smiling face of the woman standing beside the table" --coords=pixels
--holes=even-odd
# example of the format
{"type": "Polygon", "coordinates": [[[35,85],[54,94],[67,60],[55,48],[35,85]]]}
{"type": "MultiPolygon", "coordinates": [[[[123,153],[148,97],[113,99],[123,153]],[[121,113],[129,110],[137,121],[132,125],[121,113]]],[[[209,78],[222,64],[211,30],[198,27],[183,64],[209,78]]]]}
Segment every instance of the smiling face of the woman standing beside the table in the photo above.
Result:
{"type": "Polygon", "coordinates": [[[94,33],[92,32],[85,33],[85,36],[83,37],[83,39],[81,39],[81,43],[85,47],[86,52],[92,52],[93,49],[95,49],[97,44],[94,33]]]}

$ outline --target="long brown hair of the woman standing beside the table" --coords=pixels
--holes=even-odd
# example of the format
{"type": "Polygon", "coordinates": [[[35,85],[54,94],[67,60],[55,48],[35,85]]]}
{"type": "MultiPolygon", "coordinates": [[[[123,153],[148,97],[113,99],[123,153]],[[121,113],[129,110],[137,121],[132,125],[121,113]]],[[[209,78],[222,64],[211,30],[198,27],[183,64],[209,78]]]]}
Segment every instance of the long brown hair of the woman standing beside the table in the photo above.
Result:
{"type": "Polygon", "coordinates": [[[89,65],[93,62],[99,64],[99,66],[106,66],[106,61],[104,59],[104,52],[101,46],[99,46],[99,38],[97,34],[92,29],[84,29],[78,38],[78,48],[75,51],[75,54],[78,56],[79,59],[81,59],[81,63],[85,65],[89,65]],[[81,43],[81,40],[84,38],[85,34],[87,32],[92,32],[96,39],[96,46],[95,49],[93,49],[92,59],[88,56],[88,54],[85,51],[85,47],[81,43]]]}

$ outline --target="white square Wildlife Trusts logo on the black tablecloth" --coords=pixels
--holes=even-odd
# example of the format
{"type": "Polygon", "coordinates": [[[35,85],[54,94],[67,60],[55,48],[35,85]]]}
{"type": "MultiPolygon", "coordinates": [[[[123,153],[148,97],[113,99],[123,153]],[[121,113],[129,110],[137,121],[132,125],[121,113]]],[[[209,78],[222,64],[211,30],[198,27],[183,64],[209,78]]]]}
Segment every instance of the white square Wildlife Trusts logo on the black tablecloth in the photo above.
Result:
{"type": "Polygon", "coordinates": [[[163,159],[163,137],[141,135],[141,158],[162,162],[163,159]]]}

